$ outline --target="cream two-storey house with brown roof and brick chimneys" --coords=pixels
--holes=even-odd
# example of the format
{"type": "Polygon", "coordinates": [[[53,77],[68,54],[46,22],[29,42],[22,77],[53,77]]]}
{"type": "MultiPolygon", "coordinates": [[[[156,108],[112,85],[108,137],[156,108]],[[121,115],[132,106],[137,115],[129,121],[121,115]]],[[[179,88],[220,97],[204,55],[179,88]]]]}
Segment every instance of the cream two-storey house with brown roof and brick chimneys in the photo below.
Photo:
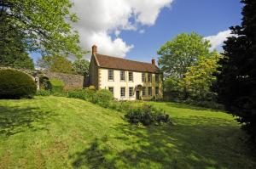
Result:
{"type": "Polygon", "coordinates": [[[90,86],[108,89],[119,100],[162,99],[162,74],[152,63],[138,62],[97,54],[92,47],[90,59],[90,86]]]}

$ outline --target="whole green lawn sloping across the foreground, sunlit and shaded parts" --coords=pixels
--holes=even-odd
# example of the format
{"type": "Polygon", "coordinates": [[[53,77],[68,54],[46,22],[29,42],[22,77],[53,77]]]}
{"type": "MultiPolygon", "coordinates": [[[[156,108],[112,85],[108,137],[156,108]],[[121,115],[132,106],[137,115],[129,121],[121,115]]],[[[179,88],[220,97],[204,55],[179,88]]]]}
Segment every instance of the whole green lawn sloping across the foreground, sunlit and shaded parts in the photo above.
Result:
{"type": "Polygon", "coordinates": [[[0,100],[0,168],[256,168],[231,115],[150,104],[173,125],[137,127],[80,99],[0,100]]]}

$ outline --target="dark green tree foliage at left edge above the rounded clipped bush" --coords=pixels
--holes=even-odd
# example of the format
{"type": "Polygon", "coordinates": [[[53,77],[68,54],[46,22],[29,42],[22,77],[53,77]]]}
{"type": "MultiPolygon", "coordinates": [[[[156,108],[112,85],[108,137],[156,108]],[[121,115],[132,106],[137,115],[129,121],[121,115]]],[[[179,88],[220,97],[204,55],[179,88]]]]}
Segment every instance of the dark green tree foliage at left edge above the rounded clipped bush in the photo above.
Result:
{"type": "Polygon", "coordinates": [[[0,65],[33,70],[34,64],[26,52],[25,35],[13,27],[12,20],[4,20],[0,15],[0,65]]]}

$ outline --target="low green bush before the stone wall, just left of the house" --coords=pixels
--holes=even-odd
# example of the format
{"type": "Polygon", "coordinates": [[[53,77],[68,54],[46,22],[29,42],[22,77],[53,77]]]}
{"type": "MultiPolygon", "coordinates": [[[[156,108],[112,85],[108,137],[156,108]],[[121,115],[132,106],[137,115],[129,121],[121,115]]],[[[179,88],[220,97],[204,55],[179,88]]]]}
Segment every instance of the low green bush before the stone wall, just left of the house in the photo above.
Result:
{"type": "Polygon", "coordinates": [[[67,97],[91,101],[94,93],[96,93],[96,91],[90,88],[77,89],[67,92],[67,97]]]}

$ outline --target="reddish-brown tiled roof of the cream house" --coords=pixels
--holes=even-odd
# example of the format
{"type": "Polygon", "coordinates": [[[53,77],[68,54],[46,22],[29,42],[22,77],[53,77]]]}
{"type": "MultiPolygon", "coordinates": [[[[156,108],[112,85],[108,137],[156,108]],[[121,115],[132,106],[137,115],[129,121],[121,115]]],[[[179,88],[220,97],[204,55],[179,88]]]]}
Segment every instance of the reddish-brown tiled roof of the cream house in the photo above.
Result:
{"type": "Polygon", "coordinates": [[[159,68],[151,63],[138,62],[130,59],[94,54],[99,67],[117,70],[143,71],[150,73],[159,72],[159,68]]]}

